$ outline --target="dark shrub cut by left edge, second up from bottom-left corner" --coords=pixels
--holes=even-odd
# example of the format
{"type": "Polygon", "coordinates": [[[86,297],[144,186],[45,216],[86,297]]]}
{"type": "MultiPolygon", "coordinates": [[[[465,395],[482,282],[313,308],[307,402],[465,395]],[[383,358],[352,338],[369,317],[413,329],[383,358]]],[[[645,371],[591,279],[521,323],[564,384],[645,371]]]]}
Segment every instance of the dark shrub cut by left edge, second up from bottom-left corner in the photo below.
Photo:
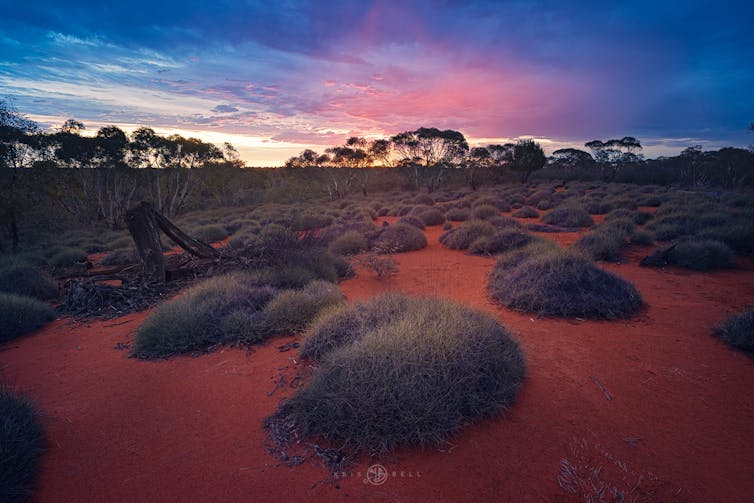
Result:
{"type": "Polygon", "coordinates": [[[41,300],[0,293],[0,343],[33,332],[54,319],[55,311],[41,300]]]}

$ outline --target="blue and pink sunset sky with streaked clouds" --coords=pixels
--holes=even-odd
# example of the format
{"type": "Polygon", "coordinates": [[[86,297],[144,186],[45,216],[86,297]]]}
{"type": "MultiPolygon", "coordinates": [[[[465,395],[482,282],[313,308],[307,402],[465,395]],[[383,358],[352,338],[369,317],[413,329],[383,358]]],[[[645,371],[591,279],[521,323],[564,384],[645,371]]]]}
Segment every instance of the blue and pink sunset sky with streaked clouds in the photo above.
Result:
{"type": "Polygon", "coordinates": [[[418,127],[550,153],[745,147],[754,2],[0,0],[0,96],[40,125],[149,126],[252,166],[418,127]]]}

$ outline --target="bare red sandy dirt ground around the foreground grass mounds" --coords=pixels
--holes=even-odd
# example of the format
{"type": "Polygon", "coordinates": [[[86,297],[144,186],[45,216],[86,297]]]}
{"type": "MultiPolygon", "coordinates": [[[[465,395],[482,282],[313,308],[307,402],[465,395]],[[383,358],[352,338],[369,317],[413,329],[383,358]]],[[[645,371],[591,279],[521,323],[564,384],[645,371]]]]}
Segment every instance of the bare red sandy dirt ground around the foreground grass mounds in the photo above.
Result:
{"type": "Polygon", "coordinates": [[[362,482],[366,459],[335,484],[316,458],[288,468],[264,448],[262,420],[292,390],[268,393],[301,367],[276,349],[292,338],[249,354],[143,362],[114,347],[145,313],[63,320],[0,352],[2,381],[46,413],[39,501],[577,501],[558,485],[563,459],[577,474],[602,466],[602,481],[638,484],[633,494],[647,501],[749,500],[754,365],[710,327],[754,303],[754,262],[704,274],[645,269],[633,248],[627,263],[604,267],[641,291],[639,316],[542,319],[493,305],[493,260],[445,249],[441,232],[429,227],[426,249],[395,255],[395,277],[359,270],[342,290],[351,301],[438,295],[495,314],[528,364],[505,418],[468,427],[442,450],[399,450],[383,460],[384,485],[362,482]]]}

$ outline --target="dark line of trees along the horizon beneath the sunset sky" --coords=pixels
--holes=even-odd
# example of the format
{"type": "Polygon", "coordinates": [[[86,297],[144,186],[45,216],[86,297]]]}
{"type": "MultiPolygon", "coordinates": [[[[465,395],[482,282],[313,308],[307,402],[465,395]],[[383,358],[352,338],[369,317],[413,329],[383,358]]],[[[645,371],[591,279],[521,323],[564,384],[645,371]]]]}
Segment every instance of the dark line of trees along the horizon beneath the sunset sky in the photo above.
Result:
{"type": "MultiPolygon", "coordinates": [[[[754,131],[754,130],[753,130],[754,131]]],[[[689,187],[751,187],[754,154],[740,148],[645,159],[633,137],[592,140],[547,157],[534,140],[470,147],[459,131],[421,127],[389,138],[351,137],[323,153],[304,150],[279,169],[245,168],[232,145],[216,146],[148,127],[105,126],[85,135],[68,120],[42,131],[0,99],[0,233],[18,246],[22,217],[123,226],[148,200],[168,216],[187,209],[353,192],[426,189],[534,179],[602,180],[689,187]]],[[[2,244],[0,243],[0,247],[2,244]]]]}

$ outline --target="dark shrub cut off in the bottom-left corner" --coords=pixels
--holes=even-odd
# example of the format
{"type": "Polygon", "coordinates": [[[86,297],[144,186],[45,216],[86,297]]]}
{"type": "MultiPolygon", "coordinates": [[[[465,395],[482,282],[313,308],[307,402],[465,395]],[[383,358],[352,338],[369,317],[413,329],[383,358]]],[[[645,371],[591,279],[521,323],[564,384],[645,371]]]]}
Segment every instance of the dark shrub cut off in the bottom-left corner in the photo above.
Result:
{"type": "Polygon", "coordinates": [[[30,499],[46,449],[36,407],[23,396],[0,388],[0,501],[30,499]]]}

